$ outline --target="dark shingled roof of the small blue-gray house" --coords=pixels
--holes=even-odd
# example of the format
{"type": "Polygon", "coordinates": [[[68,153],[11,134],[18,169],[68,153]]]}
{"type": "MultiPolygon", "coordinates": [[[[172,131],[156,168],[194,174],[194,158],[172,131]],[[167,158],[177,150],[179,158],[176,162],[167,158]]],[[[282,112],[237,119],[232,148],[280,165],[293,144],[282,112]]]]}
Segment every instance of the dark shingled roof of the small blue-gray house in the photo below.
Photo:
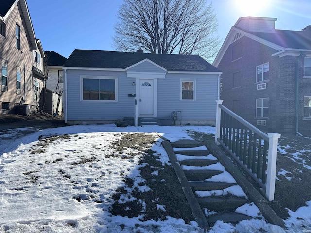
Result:
{"type": "Polygon", "coordinates": [[[199,55],[153,54],[99,50],[74,50],[64,66],[125,69],[146,58],[170,71],[221,72],[199,55]]]}

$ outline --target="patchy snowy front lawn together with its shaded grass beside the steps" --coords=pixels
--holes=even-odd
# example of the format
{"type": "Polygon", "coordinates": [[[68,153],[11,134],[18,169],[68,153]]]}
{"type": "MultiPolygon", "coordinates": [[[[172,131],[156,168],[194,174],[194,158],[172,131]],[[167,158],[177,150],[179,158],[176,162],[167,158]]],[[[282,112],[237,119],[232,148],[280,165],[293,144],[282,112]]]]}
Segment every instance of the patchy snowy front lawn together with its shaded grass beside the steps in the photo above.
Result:
{"type": "MultiPolygon", "coordinates": [[[[23,130],[28,129],[8,130],[0,135],[0,232],[202,232],[190,218],[180,218],[184,213],[178,214],[177,208],[167,213],[173,208],[168,202],[174,200],[172,197],[156,196],[151,191],[158,185],[161,194],[165,185],[167,190],[173,186],[158,178],[171,169],[159,135],[177,141],[190,139],[190,132],[213,134],[213,127],[78,125],[37,130],[17,138],[18,131],[23,130]],[[150,140],[143,144],[140,137],[150,140]],[[131,147],[123,145],[131,138],[135,140],[131,147]],[[152,211],[146,208],[146,197],[154,203],[152,211]],[[138,213],[132,210],[134,202],[139,204],[138,213]]],[[[278,177],[291,174],[285,171],[278,177]]],[[[289,211],[286,232],[311,230],[310,202],[305,205],[289,211]]],[[[254,215],[252,210],[251,206],[243,206],[237,212],[254,215]]],[[[186,212],[187,207],[182,211],[186,212]]],[[[237,225],[217,222],[210,232],[283,231],[254,219],[237,225]]]]}

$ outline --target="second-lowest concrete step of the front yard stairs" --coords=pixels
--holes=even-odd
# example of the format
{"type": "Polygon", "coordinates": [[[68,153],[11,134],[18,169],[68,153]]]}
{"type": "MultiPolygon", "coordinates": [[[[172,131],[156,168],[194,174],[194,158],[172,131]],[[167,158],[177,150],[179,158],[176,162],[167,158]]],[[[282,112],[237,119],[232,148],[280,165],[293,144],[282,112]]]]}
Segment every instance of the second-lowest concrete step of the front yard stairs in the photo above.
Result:
{"type": "Polygon", "coordinates": [[[237,197],[208,197],[208,198],[197,198],[201,208],[207,208],[212,211],[229,211],[235,210],[236,208],[249,202],[248,199],[237,198],[237,197]]]}

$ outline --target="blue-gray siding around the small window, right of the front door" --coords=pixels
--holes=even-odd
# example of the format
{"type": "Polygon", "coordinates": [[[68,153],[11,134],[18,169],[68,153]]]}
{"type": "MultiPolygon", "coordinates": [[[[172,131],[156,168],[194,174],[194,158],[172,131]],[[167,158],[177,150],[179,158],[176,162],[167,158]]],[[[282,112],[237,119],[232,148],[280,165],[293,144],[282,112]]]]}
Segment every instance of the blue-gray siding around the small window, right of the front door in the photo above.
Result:
{"type": "Polygon", "coordinates": [[[170,74],[157,80],[157,115],[181,111],[183,120],[215,120],[218,75],[170,74]],[[196,100],[180,100],[180,79],[196,79],[196,100]]]}

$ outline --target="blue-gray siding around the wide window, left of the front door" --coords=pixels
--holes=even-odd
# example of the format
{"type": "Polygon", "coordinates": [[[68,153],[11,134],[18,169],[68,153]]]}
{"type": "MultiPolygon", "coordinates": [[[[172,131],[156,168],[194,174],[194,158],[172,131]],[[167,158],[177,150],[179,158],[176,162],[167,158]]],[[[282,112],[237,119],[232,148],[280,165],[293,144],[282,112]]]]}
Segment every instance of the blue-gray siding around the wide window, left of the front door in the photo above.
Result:
{"type": "Polygon", "coordinates": [[[134,97],[128,97],[128,94],[135,93],[133,81],[135,79],[127,78],[126,72],[67,70],[67,119],[115,120],[134,117],[134,97]],[[81,102],[81,75],[118,77],[118,102],[81,102]]]}

